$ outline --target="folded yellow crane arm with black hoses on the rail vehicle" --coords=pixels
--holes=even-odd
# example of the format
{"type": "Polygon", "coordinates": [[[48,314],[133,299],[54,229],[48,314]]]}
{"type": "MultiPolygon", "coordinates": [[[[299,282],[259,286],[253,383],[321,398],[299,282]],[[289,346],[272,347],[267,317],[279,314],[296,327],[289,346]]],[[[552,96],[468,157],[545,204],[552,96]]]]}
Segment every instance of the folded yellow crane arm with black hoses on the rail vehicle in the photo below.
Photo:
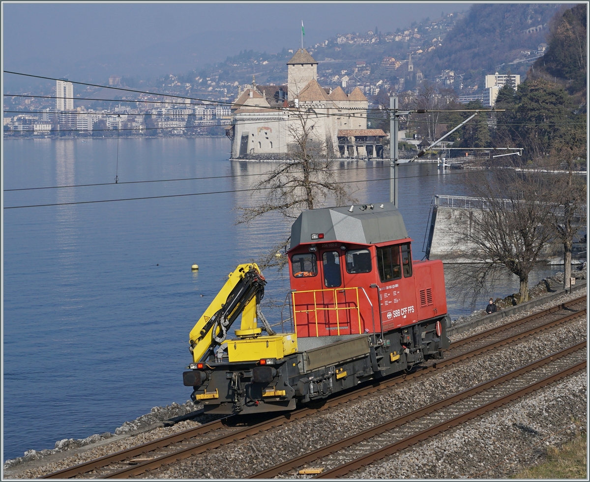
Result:
{"type": "Polygon", "coordinates": [[[256,304],[264,296],[266,281],[255,263],[240,264],[228,275],[205,313],[191,330],[191,353],[195,362],[209,348],[222,343],[227,330],[242,313],[242,329],[256,328],[256,304]]]}

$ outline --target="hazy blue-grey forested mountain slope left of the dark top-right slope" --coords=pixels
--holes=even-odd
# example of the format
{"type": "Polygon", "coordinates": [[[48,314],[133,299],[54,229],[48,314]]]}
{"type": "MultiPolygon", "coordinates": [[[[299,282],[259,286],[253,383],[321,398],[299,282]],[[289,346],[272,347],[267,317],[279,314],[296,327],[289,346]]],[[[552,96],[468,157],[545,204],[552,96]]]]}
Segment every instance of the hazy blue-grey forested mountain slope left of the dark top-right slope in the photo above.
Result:
{"type": "Polygon", "coordinates": [[[559,8],[557,4],[473,5],[442,46],[422,56],[419,67],[427,78],[448,69],[465,74],[467,82],[508,68],[513,74],[526,74],[530,63],[510,63],[521,51],[536,50],[546,42],[550,20],[559,8]]]}

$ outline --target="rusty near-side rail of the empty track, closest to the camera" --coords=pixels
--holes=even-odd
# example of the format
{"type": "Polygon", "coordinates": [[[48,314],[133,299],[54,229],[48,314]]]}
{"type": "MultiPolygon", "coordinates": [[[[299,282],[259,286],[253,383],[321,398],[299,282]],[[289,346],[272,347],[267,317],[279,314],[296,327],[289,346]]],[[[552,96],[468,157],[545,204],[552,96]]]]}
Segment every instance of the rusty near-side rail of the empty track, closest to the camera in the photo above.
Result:
{"type": "Polygon", "coordinates": [[[486,414],[487,412],[493,411],[501,406],[509,404],[516,399],[522,398],[525,395],[528,395],[536,390],[543,388],[550,383],[558,381],[559,379],[565,378],[568,375],[572,375],[572,373],[578,372],[586,368],[586,360],[576,363],[576,365],[571,366],[568,369],[562,370],[555,375],[548,376],[543,378],[542,380],[532,383],[531,385],[526,386],[525,388],[519,389],[517,391],[512,392],[511,394],[505,395],[499,399],[491,401],[487,404],[478,406],[468,412],[464,412],[461,415],[457,415],[457,417],[453,417],[449,420],[441,422],[440,424],[434,425],[433,427],[427,428],[425,430],[419,431],[410,437],[404,438],[404,440],[400,440],[395,442],[394,444],[387,445],[386,447],[381,448],[371,454],[367,454],[363,457],[359,457],[356,460],[352,460],[349,463],[339,465],[338,467],[333,468],[332,470],[327,470],[322,474],[319,474],[313,478],[335,478],[335,477],[342,477],[346,474],[349,474],[352,471],[359,470],[366,465],[372,464],[382,458],[388,457],[400,450],[404,450],[405,448],[411,447],[411,445],[415,445],[418,442],[422,442],[427,440],[428,438],[434,437],[434,435],[438,435],[442,432],[447,431],[450,428],[457,427],[458,425],[464,424],[465,422],[470,421],[473,418],[479,417],[480,415],[486,414]]]}

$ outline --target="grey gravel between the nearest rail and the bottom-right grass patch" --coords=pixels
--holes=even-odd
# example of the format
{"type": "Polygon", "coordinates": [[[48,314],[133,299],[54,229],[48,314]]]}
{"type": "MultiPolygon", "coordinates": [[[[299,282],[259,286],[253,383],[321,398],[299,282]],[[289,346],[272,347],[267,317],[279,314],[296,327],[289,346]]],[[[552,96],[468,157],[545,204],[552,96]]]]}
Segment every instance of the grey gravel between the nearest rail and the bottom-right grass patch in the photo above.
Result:
{"type": "Polygon", "coordinates": [[[507,478],[586,427],[586,370],[350,478],[507,478]]]}

